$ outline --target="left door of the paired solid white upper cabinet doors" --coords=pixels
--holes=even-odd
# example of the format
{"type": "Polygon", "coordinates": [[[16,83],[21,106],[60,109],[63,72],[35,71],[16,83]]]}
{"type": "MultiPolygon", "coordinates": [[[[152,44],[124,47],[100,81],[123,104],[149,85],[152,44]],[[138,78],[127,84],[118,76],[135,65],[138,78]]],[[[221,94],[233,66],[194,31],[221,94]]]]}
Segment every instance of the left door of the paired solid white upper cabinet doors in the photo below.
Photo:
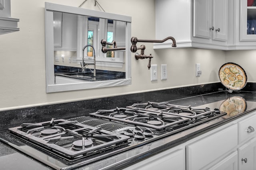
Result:
{"type": "Polygon", "coordinates": [[[212,38],[212,0],[193,1],[193,36],[212,38]]]}

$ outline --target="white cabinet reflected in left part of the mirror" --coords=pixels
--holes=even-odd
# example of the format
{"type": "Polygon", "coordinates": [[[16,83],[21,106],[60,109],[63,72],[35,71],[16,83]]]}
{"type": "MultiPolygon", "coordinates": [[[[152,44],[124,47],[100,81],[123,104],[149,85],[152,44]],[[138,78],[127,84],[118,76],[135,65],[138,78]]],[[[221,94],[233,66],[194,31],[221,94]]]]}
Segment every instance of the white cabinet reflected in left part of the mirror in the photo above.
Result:
{"type": "Polygon", "coordinates": [[[77,15],[54,12],[54,50],[77,50],[77,15]]]}

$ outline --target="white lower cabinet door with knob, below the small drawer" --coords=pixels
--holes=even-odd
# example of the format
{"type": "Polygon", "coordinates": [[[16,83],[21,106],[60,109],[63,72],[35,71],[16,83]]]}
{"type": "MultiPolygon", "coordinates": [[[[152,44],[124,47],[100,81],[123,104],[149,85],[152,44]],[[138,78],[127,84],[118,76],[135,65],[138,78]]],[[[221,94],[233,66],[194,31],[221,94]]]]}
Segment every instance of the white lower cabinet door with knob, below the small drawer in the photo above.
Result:
{"type": "Polygon", "coordinates": [[[238,169],[256,170],[256,138],[238,148],[238,169]]]}

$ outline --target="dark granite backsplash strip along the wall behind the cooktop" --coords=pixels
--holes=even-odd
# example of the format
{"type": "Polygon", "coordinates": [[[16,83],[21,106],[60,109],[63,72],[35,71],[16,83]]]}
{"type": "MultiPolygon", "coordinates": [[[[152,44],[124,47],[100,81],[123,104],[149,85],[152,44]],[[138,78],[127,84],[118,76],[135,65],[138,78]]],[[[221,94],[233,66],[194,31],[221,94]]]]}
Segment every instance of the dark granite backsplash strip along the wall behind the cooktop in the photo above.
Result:
{"type": "MultiPolygon", "coordinates": [[[[173,88],[167,90],[157,90],[152,92],[142,92],[122,96],[97,98],[82,100],[62,104],[52,104],[46,106],[28,107],[0,111],[0,130],[4,131],[10,127],[16,127],[22,123],[38,123],[54,119],[68,119],[93,113],[98,109],[113,109],[116,106],[126,107],[134,103],[144,102],[164,102],[200,94],[218,92],[225,90],[219,83],[173,88]]],[[[255,91],[256,83],[247,83],[244,91],[255,91]]]]}

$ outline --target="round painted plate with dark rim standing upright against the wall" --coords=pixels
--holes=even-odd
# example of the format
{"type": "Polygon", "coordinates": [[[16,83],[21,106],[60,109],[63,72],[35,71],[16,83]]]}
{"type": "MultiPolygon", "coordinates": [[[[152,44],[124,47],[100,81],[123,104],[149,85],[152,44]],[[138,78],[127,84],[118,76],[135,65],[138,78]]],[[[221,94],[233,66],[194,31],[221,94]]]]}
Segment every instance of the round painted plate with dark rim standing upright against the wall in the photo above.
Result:
{"type": "Polygon", "coordinates": [[[219,70],[220,82],[228,89],[241,90],[247,83],[244,69],[235,63],[226,63],[219,70]]]}

